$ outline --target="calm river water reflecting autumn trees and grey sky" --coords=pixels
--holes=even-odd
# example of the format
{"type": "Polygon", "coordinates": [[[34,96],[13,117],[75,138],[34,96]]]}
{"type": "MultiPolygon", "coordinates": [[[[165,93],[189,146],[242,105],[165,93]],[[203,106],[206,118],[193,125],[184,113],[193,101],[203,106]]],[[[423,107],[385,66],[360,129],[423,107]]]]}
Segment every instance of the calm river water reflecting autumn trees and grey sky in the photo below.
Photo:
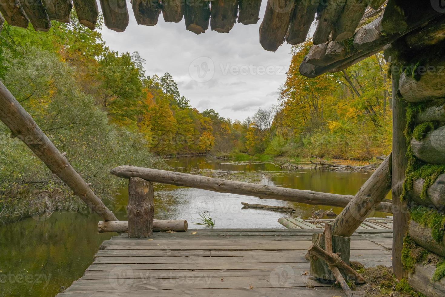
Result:
{"type": "MultiPolygon", "coordinates": [[[[333,172],[314,169],[287,171],[274,162],[231,162],[206,157],[167,161],[175,171],[236,180],[354,195],[371,173],[333,172]]],[[[126,219],[128,195],[122,189],[113,201],[120,220],[126,219]]],[[[284,228],[277,222],[288,216],[279,212],[243,209],[241,202],[294,207],[295,214],[310,217],[312,211],[331,207],[272,199],[155,185],[155,218],[186,219],[189,228],[199,213],[210,215],[216,228],[284,228]]],[[[333,207],[337,214],[341,208],[333,207]]],[[[384,216],[375,213],[373,216],[384,216]]],[[[99,217],[85,213],[54,213],[0,226],[0,296],[54,296],[82,276],[93,262],[101,242],[115,234],[97,234],[99,217]]]]}

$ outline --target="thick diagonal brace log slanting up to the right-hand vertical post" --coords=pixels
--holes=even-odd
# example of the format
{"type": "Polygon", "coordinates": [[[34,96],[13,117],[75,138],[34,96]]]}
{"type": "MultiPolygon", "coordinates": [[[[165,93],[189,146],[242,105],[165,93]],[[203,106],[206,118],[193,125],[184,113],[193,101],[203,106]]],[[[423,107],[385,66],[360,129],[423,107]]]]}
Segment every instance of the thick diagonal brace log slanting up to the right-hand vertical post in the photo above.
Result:
{"type": "Polygon", "coordinates": [[[380,164],[332,223],[332,234],[350,237],[391,190],[392,155],[380,164]]]}

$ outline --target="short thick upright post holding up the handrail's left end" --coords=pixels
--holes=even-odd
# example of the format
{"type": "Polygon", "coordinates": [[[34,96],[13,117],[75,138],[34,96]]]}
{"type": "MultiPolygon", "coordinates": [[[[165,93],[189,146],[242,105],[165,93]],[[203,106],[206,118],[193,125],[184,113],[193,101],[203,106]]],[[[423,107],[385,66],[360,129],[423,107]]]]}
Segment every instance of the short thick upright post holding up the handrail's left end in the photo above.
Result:
{"type": "Polygon", "coordinates": [[[144,238],[153,234],[153,184],[138,177],[128,183],[128,237],[144,238]]]}

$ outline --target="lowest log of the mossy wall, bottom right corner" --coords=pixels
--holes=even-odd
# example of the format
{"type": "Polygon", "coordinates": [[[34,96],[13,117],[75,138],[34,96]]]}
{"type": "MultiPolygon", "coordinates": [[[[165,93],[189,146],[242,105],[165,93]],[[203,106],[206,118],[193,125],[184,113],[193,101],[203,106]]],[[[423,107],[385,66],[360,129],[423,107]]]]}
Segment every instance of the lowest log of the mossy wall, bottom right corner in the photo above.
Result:
{"type": "Polygon", "coordinates": [[[431,281],[435,271],[435,264],[416,264],[414,273],[410,273],[408,276],[408,283],[416,292],[422,293],[425,296],[445,296],[445,278],[437,282],[431,281]]]}

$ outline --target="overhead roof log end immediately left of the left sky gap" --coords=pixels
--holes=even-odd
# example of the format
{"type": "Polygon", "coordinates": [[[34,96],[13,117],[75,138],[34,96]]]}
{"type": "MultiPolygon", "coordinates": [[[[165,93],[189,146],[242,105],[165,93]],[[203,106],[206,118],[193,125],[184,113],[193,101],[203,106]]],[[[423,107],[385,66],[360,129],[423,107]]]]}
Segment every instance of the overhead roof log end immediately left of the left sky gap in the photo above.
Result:
{"type": "Polygon", "coordinates": [[[105,26],[116,32],[124,32],[128,26],[127,2],[125,0],[100,1],[105,26]]]}

